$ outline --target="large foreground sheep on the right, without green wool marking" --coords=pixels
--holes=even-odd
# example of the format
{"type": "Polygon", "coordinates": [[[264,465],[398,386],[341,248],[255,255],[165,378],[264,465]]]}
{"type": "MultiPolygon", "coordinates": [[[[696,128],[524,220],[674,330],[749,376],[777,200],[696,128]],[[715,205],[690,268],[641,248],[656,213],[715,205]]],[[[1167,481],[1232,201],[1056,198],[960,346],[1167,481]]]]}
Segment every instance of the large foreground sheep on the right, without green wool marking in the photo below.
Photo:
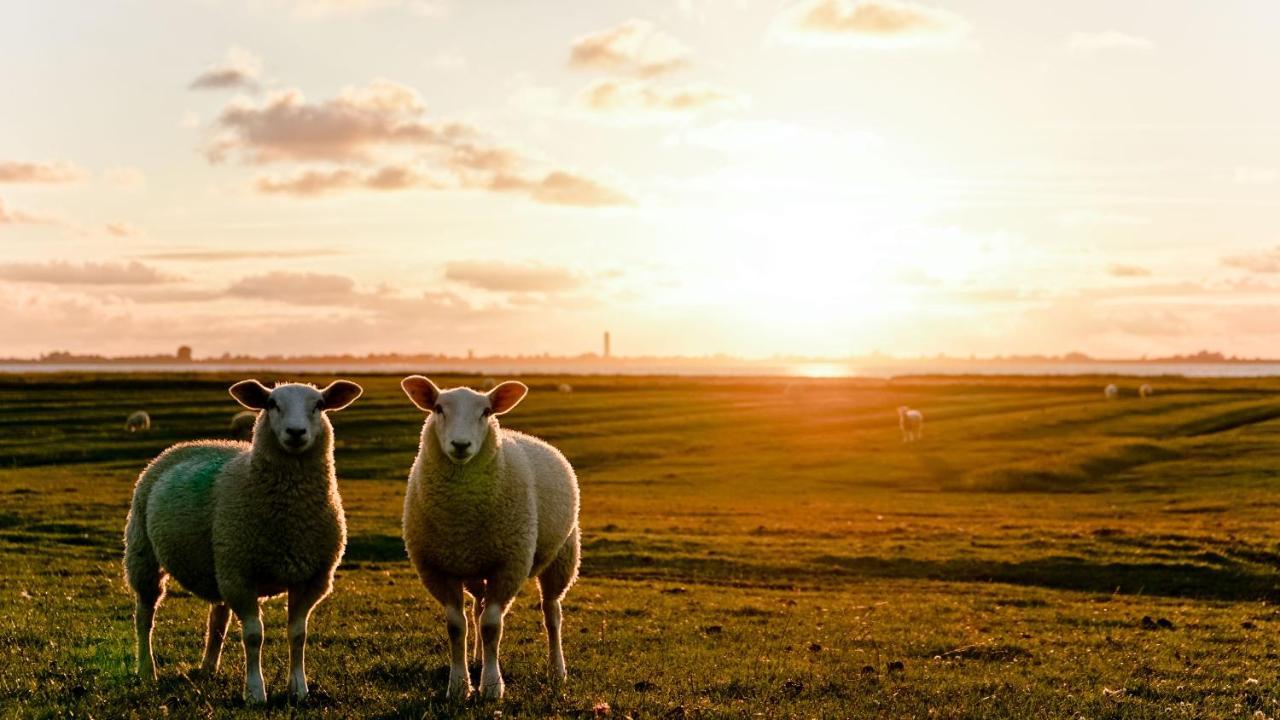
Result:
{"type": "Polygon", "coordinates": [[[474,598],[480,693],[503,696],[498,665],[503,616],[521,585],[538,578],[552,683],[564,680],[561,600],[577,579],[577,477],[550,445],[498,427],[529,392],[504,382],[486,393],[440,391],[422,375],[401,382],[420,410],[417,459],[404,495],[404,547],[428,592],[444,606],[448,697],[471,693],[465,594],[474,598]]]}

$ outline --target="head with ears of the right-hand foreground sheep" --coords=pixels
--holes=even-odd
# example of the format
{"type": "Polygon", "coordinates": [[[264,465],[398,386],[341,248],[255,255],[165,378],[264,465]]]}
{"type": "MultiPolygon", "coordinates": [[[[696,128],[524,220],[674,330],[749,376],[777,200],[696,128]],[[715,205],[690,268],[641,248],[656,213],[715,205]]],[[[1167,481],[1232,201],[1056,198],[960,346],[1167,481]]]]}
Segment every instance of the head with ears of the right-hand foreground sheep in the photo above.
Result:
{"type": "Polygon", "coordinates": [[[401,380],[404,395],[420,410],[431,414],[430,434],[449,461],[470,462],[498,427],[497,416],[515,407],[529,388],[515,380],[500,383],[489,392],[457,387],[444,389],[422,375],[401,380]]]}

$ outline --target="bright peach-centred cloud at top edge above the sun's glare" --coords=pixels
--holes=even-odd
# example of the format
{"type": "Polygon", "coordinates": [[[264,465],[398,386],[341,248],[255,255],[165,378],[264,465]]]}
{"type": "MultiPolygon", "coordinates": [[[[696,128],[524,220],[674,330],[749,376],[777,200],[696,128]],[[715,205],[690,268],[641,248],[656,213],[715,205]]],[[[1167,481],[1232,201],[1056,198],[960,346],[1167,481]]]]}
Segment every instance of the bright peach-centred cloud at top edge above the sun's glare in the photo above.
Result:
{"type": "Polygon", "coordinates": [[[950,44],[968,32],[960,15],[908,0],[803,0],[783,10],[780,36],[865,47],[950,44]]]}

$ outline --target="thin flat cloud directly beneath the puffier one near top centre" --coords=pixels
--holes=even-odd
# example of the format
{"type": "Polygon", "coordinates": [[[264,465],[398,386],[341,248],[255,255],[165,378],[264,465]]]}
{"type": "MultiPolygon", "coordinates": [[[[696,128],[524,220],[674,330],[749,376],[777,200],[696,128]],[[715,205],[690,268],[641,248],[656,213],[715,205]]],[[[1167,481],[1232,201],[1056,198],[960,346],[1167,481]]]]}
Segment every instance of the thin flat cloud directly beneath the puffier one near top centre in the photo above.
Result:
{"type": "Polygon", "coordinates": [[[742,100],[710,85],[660,87],[650,82],[607,78],[593,82],[577,95],[577,104],[595,113],[625,117],[676,117],[712,109],[736,109],[742,100]]]}

